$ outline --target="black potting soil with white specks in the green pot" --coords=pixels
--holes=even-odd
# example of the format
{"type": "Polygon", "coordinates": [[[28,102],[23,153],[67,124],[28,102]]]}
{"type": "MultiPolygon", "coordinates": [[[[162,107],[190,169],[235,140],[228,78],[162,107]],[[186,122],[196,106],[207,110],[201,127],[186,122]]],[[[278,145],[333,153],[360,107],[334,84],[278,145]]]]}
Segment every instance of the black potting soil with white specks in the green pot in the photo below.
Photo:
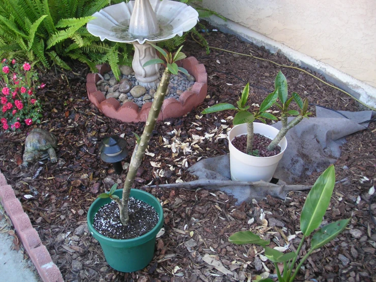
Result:
{"type": "Polygon", "coordinates": [[[158,213],[149,204],[129,198],[129,222],[120,221],[119,206],[114,201],[101,207],[94,216],[93,227],[100,234],[113,239],[132,239],[151,231],[159,220],[158,213]]]}

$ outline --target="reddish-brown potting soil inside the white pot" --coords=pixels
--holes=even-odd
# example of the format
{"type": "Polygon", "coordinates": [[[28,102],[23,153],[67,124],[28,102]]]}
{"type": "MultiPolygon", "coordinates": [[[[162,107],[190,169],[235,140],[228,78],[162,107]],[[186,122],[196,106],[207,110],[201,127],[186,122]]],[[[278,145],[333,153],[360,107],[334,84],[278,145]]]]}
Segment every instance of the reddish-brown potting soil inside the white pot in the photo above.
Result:
{"type": "MultiPolygon", "coordinates": [[[[281,147],[277,146],[273,151],[268,151],[267,147],[269,146],[272,140],[268,137],[254,133],[253,134],[253,146],[252,156],[256,157],[272,157],[278,155],[281,152],[281,147]]],[[[231,142],[236,149],[240,152],[246,153],[247,149],[247,134],[236,136],[231,142]]]]}

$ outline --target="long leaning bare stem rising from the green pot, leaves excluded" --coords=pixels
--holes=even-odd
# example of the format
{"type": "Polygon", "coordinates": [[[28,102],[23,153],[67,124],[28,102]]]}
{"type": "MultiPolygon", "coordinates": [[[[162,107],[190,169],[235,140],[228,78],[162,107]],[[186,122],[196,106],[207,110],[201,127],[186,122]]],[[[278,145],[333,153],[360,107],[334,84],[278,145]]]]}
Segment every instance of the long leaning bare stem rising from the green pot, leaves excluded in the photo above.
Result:
{"type": "Polygon", "coordinates": [[[122,196],[123,207],[120,210],[120,220],[124,225],[127,225],[129,221],[128,201],[129,201],[129,195],[131,193],[131,188],[133,186],[134,179],[136,177],[138,168],[141,164],[143,155],[146,149],[148,148],[149,140],[152,135],[152,131],[154,129],[155,123],[158,119],[159,112],[161,111],[164,96],[166,95],[166,92],[167,92],[170,75],[171,75],[170,71],[166,68],[163,72],[161,82],[159,83],[157,92],[154,94],[154,101],[153,101],[152,107],[150,108],[149,116],[145,123],[145,128],[143,129],[143,133],[140,138],[140,144],[138,145],[137,151],[134,154],[134,157],[129,165],[127,178],[125,179],[125,183],[123,187],[123,196],[122,196]]]}

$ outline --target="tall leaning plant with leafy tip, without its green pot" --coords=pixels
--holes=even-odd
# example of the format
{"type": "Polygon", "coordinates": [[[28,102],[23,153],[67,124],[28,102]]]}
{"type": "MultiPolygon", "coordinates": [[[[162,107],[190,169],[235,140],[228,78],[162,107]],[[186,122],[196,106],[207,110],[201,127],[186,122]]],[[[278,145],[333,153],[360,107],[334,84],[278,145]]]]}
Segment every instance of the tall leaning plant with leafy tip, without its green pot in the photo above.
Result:
{"type": "Polygon", "coordinates": [[[168,83],[170,81],[171,73],[177,74],[178,71],[181,71],[183,73],[188,73],[185,69],[178,67],[178,65],[176,64],[177,61],[186,58],[186,55],[181,52],[181,49],[183,46],[181,46],[177,52],[172,54],[170,52],[166,52],[165,50],[163,50],[162,48],[154,44],[151,44],[151,45],[160,52],[164,60],[153,59],[143,64],[143,67],[146,67],[152,64],[164,64],[166,68],[163,72],[161,81],[159,82],[157,92],[154,94],[154,101],[150,108],[148,119],[145,123],[145,127],[143,129],[143,133],[141,137],[133,133],[136,136],[137,142],[133,150],[128,174],[125,179],[122,199],[119,199],[119,197],[115,197],[115,195],[112,194],[115,191],[115,188],[113,186],[108,193],[103,193],[99,195],[100,198],[111,198],[113,201],[115,201],[118,204],[119,209],[120,209],[120,220],[124,225],[127,225],[129,221],[128,202],[129,202],[130,191],[133,186],[134,179],[136,177],[138,168],[141,164],[142,158],[148,147],[149,140],[152,135],[152,131],[154,129],[155,123],[158,119],[158,115],[162,107],[164,96],[166,95],[166,92],[168,89],[168,83]]]}

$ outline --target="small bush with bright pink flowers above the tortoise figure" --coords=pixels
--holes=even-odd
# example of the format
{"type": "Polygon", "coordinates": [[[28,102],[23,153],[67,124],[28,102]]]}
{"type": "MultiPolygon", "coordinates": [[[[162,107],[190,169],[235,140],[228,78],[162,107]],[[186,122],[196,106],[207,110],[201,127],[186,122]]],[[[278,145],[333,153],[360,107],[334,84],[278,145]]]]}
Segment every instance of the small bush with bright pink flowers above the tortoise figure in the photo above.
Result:
{"type": "Polygon", "coordinates": [[[16,130],[22,125],[40,123],[42,105],[35,92],[43,89],[38,74],[29,63],[18,64],[4,59],[0,65],[0,121],[4,130],[16,130]]]}

